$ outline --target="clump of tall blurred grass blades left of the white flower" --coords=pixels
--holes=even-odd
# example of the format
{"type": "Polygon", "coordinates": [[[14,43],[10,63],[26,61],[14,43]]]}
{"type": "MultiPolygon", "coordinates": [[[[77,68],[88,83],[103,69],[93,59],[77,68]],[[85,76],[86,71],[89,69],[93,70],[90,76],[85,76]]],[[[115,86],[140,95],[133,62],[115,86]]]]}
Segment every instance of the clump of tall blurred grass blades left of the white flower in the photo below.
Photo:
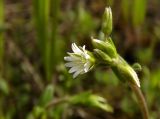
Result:
{"type": "Polygon", "coordinates": [[[59,6],[60,0],[34,0],[33,2],[33,17],[37,30],[38,44],[42,54],[45,75],[48,80],[51,79],[55,64],[57,64],[55,45],[58,39],[59,6]]]}

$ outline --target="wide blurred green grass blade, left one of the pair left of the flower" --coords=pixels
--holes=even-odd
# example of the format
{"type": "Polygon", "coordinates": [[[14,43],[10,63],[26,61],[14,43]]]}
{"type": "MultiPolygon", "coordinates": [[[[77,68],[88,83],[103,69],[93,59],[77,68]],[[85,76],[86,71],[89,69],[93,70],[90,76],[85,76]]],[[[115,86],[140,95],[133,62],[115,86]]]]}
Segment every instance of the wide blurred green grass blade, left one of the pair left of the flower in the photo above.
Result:
{"type": "Polygon", "coordinates": [[[37,31],[37,40],[42,54],[45,75],[47,79],[51,78],[50,70],[50,45],[49,45],[49,14],[50,0],[33,0],[34,22],[37,31]]]}

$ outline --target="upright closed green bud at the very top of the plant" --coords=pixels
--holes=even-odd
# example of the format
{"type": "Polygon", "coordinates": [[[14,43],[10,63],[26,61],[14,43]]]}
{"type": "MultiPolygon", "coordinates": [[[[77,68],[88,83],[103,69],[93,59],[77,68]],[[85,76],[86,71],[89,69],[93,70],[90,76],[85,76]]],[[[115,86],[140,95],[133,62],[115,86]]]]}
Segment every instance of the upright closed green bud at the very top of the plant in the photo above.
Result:
{"type": "Polygon", "coordinates": [[[102,31],[106,36],[112,32],[112,11],[110,7],[105,8],[102,21],[102,31]]]}

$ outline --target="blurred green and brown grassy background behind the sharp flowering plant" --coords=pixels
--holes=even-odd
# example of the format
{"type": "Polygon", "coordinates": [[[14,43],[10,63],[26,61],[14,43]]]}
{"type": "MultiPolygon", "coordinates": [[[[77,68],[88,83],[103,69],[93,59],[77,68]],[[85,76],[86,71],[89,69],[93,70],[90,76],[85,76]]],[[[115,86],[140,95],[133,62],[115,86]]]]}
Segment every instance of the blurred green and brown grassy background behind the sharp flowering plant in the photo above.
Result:
{"type": "Polygon", "coordinates": [[[72,42],[92,50],[106,6],[118,52],[142,65],[150,119],[160,119],[159,0],[0,0],[0,119],[142,119],[110,69],[73,79],[64,66],[72,42]]]}

